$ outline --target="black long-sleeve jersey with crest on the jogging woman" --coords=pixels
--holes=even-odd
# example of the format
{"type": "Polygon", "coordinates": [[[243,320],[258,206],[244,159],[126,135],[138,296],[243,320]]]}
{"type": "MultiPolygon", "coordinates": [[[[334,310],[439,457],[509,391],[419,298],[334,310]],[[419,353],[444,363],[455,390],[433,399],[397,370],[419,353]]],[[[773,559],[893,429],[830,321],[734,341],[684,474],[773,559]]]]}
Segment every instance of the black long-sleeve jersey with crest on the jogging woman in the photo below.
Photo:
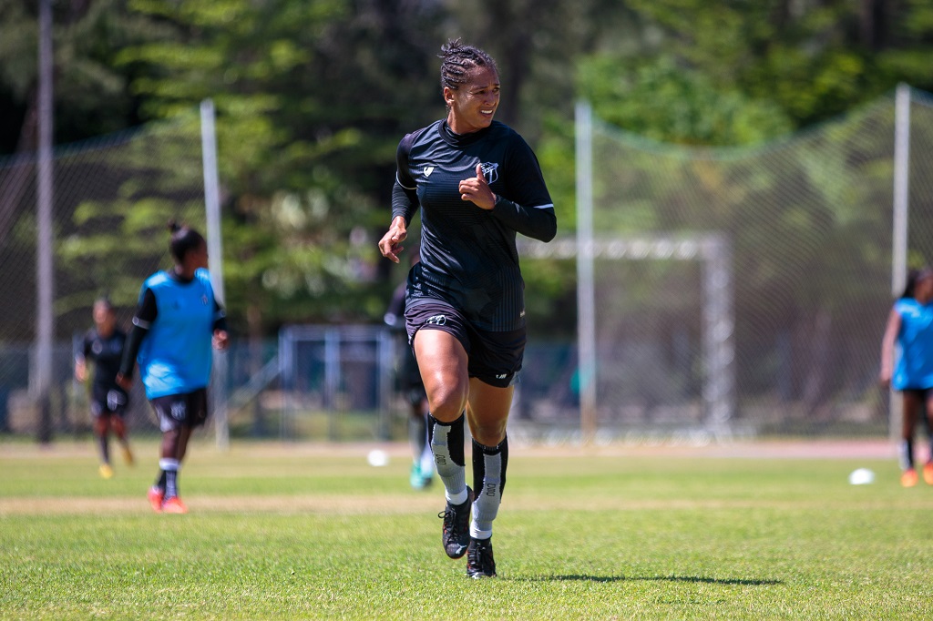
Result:
{"type": "Polygon", "coordinates": [[[554,205],[535,153],[516,131],[494,121],[467,134],[445,120],[406,135],[397,150],[392,217],[406,223],[421,208],[421,261],[411,268],[408,303],[441,299],[480,330],[524,327],[524,282],[516,233],[550,242],[554,205]],[[496,196],[484,210],[459,185],[483,174],[496,196]]]}

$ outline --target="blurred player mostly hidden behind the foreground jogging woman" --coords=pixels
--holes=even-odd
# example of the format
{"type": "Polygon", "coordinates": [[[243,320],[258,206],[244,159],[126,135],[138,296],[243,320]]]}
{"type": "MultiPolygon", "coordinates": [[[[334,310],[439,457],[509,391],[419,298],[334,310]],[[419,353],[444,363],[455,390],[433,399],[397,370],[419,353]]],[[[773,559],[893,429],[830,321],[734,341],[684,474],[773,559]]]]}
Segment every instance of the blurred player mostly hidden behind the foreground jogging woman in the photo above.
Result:
{"type": "MultiPolygon", "coordinates": [[[[421,256],[417,249],[411,250],[411,266],[414,266],[421,256]]],[[[411,475],[409,482],[415,490],[424,490],[431,485],[434,477],[434,453],[427,439],[427,393],[425,382],[421,380],[418,362],[408,342],[405,330],[405,286],[400,283],[392,294],[389,308],[385,311],[385,323],[393,330],[405,335],[405,343],[401,347],[402,355],[398,364],[398,384],[411,408],[408,417],[409,442],[411,444],[411,475]]]]}

